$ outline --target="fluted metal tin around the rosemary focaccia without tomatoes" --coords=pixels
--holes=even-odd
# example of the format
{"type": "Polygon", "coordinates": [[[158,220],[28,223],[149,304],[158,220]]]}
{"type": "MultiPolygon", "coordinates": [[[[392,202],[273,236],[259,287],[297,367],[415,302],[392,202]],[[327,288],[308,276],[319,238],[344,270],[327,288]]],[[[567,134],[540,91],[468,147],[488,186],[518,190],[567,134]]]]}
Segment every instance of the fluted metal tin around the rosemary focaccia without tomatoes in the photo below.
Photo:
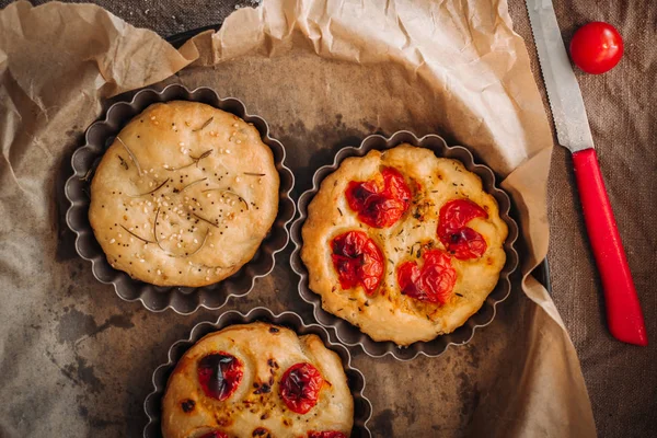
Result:
{"type": "Polygon", "coordinates": [[[242,297],[249,293],[255,278],[269,274],[274,268],[274,255],[288,243],[287,224],[292,220],[296,211],[295,203],[290,198],[295,176],[286,166],[285,157],[284,146],[269,136],[267,123],[258,116],[247,114],[244,104],[238,99],[220,99],[209,88],[189,91],[180,84],[169,85],[161,91],[141,90],[131,101],[112,105],[103,119],[91,125],[85,132],[85,145],[76,150],[71,158],[73,175],[65,186],[66,196],[71,203],[66,221],[77,234],[76,250],[82,258],[91,262],[94,277],[101,283],[113,284],[116,293],[126,301],[141,301],[148,310],[154,312],[172,309],[181,314],[193,313],[199,308],[219,309],[230,297],[242,297]],[[128,274],[114,269],[107,263],[89,222],[89,193],[93,172],[115,136],[147,106],[174,100],[206,103],[252,123],[260,131],[263,142],[272,149],[280,177],[278,215],[253,258],[229,278],[200,288],[159,287],[132,279],[128,274]]]}

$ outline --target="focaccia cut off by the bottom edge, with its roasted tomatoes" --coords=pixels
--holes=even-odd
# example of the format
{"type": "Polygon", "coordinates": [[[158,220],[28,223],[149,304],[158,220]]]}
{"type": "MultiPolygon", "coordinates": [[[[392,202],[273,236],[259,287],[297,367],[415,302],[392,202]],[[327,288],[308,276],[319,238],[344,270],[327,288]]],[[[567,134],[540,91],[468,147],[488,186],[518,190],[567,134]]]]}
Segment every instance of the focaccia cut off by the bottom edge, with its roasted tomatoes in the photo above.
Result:
{"type": "Polygon", "coordinates": [[[164,438],[346,438],[354,400],[337,354],[316,335],[267,323],[201,338],[169,378],[164,438]]]}

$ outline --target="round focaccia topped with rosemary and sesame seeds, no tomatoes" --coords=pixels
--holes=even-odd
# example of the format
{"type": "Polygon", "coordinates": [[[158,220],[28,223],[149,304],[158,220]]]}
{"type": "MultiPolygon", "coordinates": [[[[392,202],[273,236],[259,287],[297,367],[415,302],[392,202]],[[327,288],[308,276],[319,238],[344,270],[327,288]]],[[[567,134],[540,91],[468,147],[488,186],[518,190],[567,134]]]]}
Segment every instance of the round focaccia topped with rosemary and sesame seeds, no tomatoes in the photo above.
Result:
{"type": "Polygon", "coordinates": [[[251,124],[203,103],[158,103],[103,155],[89,220],[114,268],[158,286],[205,286],[253,257],[278,186],[251,124]]]}

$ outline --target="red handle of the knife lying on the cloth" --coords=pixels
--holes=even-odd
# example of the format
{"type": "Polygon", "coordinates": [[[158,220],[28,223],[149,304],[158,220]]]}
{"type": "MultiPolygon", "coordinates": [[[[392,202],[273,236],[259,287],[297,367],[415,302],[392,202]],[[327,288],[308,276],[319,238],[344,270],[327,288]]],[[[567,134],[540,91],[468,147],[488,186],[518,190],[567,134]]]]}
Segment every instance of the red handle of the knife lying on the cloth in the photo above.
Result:
{"type": "Polygon", "coordinates": [[[607,323],[619,341],[648,345],[643,313],[595,149],[573,153],[584,221],[600,272],[607,323]]]}

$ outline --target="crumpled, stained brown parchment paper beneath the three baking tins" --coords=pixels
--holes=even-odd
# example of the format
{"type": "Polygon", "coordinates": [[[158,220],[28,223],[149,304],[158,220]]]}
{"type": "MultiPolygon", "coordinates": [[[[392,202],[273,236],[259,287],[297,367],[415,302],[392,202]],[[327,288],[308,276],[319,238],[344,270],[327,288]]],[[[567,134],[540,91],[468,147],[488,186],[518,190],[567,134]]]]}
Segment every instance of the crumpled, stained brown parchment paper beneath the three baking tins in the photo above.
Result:
{"type": "MultiPolygon", "coordinates": [[[[94,5],[16,2],[0,12],[1,436],[139,436],[155,366],[218,314],[122,302],[76,256],[61,221],[68,160],[106,99],[163,80],[211,87],[267,119],[297,194],[339,147],[374,131],[466,145],[514,197],[523,273],[546,254],[552,136],[504,0],[267,0],[180,51],[94,5]]],[[[308,320],[289,254],[224,310],[257,303],[308,320]]],[[[373,435],[595,436],[558,313],[531,276],[521,289],[439,358],[356,351],[373,435]]]]}

